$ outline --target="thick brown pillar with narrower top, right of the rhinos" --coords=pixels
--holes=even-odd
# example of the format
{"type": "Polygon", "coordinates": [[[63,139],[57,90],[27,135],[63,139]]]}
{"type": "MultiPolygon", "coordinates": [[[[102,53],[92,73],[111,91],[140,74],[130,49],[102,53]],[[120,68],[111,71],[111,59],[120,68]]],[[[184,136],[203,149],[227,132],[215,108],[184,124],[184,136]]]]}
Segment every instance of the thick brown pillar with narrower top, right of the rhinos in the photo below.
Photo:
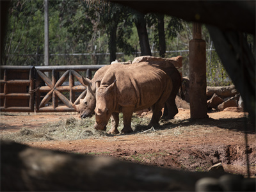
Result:
{"type": "Polygon", "coordinates": [[[207,118],[206,45],[202,25],[193,23],[193,40],[189,42],[189,96],[191,118],[207,118]]]}

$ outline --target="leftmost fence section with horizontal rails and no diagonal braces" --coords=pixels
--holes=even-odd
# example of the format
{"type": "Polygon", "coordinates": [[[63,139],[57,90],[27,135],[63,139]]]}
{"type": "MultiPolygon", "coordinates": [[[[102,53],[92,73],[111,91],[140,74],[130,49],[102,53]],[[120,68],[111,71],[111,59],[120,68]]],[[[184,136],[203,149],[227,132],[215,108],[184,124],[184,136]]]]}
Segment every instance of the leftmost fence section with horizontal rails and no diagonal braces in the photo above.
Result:
{"type": "Polygon", "coordinates": [[[1,67],[1,111],[34,111],[34,67],[1,67]]]}

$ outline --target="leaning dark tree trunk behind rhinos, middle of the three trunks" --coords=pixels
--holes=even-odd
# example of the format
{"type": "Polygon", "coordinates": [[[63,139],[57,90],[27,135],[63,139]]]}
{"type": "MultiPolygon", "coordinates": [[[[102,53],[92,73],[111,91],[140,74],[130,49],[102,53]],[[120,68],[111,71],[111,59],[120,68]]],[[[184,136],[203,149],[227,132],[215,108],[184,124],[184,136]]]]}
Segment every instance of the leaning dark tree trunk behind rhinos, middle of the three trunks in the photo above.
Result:
{"type": "Polygon", "coordinates": [[[141,56],[152,56],[144,15],[141,13],[138,13],[136,14],[136,17],[137,18],[136,18],[135,25],[136,25],[139,40],[140,40],[141,56]]]}

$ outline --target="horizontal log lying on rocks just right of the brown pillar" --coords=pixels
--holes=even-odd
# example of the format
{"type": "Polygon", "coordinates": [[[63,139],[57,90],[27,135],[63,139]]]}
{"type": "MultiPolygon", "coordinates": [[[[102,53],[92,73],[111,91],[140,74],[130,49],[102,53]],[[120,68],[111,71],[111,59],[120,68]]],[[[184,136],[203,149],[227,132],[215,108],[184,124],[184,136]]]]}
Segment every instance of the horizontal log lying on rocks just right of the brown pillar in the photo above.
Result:
{"type": "Polygon", "coordinates": [[[234,97],[238,92],[234,84],[230,86],[207,86],[206,95],[207,97],[212,97],[216,93],[219,97],[234,97]]]}

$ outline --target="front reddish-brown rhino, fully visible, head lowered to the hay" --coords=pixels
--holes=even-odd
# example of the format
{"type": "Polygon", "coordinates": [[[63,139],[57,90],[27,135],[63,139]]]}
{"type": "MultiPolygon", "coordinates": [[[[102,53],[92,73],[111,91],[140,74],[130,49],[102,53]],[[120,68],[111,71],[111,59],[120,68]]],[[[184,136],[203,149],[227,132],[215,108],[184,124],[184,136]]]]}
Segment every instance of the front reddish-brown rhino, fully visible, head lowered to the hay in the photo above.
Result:
{"type": "Polygon", "coordinates": [[[96,85],[95,129],[106,130],[112,115],[116,124],[109,132],[118,133],[118,113],[123,113],[123,133],[132,132],[134,111],[152,108],[148,126],[158,126],[161,109],[172,92],[172,79],[160,68],[141,63],[131,68],[108,70],[96,85]]]}

